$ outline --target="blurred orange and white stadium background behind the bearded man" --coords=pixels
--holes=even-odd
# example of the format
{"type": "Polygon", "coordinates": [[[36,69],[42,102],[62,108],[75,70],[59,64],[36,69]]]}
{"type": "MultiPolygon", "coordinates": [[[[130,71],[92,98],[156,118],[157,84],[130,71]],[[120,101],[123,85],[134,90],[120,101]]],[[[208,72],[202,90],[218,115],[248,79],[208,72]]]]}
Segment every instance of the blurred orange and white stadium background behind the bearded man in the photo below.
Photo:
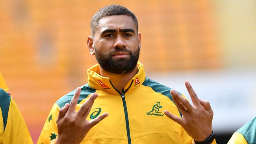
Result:
{"type": "Polygon", "coordinates": [[[87,83],[90,20],[109,4],[137,16],[149,78],[188,98],[189,80],[210,101],[219,144],[256,116],[255,0],[2,0],[0,71],[34,143],[52,105],[87,83]]]}

